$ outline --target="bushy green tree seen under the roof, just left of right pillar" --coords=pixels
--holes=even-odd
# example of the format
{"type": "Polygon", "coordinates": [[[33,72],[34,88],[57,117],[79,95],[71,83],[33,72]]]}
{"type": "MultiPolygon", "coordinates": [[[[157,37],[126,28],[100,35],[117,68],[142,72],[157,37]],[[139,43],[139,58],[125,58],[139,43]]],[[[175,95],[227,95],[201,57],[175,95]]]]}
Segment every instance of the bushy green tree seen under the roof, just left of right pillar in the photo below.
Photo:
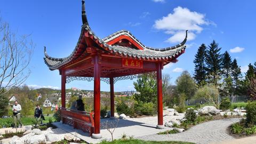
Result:
{"type": "Polygon", "coordinates": [[[137,79],[137,82],[133,82],[134,89],[139,92],[139,94],[134,94],[134,99],[138,102],[153,102],[156,103],[157,100],[157,84],[155,79],[142,76],[137,79]]]}

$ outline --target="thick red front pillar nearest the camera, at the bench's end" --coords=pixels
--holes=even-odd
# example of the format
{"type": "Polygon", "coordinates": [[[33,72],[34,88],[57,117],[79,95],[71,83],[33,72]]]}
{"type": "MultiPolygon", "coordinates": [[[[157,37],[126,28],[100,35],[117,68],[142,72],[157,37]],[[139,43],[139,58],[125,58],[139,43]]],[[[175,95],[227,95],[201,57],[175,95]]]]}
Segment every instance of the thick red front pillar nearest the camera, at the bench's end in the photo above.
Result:
{"type": "Polygon", "coordinates": [[[94,57],[94,133],[92,138],[100,139],[100,64],[99,56],[94,57]]]}

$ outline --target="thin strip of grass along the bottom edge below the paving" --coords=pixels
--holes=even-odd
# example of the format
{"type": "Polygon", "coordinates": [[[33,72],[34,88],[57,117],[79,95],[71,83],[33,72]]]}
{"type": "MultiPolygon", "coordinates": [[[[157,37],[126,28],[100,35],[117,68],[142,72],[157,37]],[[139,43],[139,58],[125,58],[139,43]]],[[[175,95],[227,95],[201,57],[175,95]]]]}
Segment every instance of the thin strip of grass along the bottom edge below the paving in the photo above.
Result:
{"type": "Polygon", "coordinates": [[[127,144],[194,144],[191,142],[181,142],[181,141],[143,141],[143,140],[114,140],[114,141],[110,141],[110,142],[101,142],[101,144],[119,144],[119,143],[127,143],[127,144]]]}

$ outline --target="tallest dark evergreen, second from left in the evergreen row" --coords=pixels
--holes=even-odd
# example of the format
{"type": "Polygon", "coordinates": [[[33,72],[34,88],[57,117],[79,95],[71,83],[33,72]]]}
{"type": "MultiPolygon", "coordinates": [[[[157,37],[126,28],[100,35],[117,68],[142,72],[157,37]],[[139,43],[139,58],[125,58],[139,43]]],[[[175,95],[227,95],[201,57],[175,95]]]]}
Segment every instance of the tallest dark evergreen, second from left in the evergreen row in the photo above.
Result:
{"type": "Polygon", "coordinates": [[[218,85],[218,81],[221,75],[221,61],[222,54],[220,54],[221,47],[214,40],[208,46],[206,51],[206,74],[209,83],[218,85]]]}

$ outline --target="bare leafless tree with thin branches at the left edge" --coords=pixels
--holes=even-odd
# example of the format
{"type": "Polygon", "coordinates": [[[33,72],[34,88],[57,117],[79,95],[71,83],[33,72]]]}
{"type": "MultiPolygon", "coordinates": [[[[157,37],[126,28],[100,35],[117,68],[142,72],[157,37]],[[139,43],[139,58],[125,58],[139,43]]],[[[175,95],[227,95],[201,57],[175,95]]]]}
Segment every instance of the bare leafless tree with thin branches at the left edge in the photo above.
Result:
{"type": "MultiPolygon", "coordinates": [[[[6,95],[12,87],[18,87],[30,74],[28,68],[34,45],[28,36],[16,36],[9,24],[0,18],[0,103],[6,109],[6,95]]],[[[3,109],[2,109],[3,108],[3,109]]],[[[0,110],[0,111],[1,111],[0,110]]]]}

